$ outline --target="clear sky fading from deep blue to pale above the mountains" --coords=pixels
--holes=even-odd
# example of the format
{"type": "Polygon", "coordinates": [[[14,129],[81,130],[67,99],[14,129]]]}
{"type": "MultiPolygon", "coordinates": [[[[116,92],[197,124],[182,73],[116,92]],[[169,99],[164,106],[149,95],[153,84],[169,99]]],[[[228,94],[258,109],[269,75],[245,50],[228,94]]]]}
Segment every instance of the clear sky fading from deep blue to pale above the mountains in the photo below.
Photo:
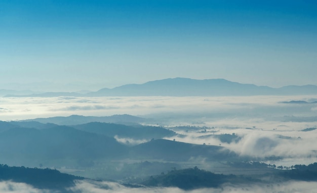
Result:
{"type": "Polygon", "coordinates": [[[0,72],[0,85],[317,85],[317,2],[1,0],[0,72]]]}

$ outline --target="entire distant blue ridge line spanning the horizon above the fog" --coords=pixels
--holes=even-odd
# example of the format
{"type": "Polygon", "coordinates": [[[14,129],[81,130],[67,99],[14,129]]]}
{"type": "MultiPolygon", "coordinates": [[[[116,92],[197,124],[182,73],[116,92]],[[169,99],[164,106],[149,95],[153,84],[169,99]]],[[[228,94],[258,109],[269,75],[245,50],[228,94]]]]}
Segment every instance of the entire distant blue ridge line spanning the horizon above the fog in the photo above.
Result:
{"type": "Polygon", "coordinates": [[[246,95],[301,95],[317,94],[316,85],[284,86],[272,88],[242,84],[225,79],[168,78],[143,84],[126,84],[112,89],[102,88],[86,94],[76,92],[46,92],[31,95],[6,95],[6,97],[53,96],[246,96],[246,95]]]}

